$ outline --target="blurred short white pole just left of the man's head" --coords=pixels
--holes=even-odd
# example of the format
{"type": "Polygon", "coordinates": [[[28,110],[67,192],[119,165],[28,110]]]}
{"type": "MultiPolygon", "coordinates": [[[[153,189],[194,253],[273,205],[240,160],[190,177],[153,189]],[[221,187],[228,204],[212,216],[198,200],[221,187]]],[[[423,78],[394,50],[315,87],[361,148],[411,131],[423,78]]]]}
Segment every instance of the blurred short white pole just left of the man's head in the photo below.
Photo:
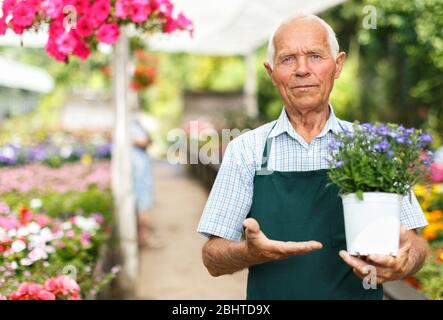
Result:
{"type": "Polygon", "coordinates": [[[257,103],[257,72],[255,70],[255,53],[249,52],[245,56],[246,81],[244,86],[244,99],[246,114],[252,118],[258,115],[257,103]]]}

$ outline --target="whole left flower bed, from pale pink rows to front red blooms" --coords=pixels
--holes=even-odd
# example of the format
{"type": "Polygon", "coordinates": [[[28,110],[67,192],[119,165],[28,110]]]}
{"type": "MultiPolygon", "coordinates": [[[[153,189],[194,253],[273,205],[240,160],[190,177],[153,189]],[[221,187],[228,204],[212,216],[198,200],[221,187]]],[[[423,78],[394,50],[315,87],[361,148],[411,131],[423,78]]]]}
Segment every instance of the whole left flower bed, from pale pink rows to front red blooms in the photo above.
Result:
{"type": "Polygon", "coordinates": [[[117,272],[95,270],[112,230],[109,160],[4,167],[0,181],[0,299],[94,298],[117,272]]]}

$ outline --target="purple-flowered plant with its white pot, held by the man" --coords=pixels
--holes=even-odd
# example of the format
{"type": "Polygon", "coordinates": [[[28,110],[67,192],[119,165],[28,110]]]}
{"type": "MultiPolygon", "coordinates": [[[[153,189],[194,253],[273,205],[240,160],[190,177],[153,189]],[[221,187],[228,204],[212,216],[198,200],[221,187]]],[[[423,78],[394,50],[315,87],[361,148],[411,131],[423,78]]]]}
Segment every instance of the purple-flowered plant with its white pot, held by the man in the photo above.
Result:
{"type": "Polygon", "coordinates": [[[330,143],[329,178],[340,187],[349,254],[397,255],[401,202],[425,173],[431,140],[396,124],[355,123],[330,143]]]}

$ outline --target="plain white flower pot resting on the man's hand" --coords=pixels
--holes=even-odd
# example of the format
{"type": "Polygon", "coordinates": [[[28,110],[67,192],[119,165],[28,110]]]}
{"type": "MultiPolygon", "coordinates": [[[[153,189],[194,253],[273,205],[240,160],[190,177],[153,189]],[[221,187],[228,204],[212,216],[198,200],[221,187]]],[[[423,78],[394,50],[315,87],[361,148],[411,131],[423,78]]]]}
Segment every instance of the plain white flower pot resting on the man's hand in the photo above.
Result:
{"type": "Polygon", "coordinates": [[[342,195],[346,246],[351,255],[396,256],[400,242],[400,205],[396,193],[365,192],[342,195]]]}

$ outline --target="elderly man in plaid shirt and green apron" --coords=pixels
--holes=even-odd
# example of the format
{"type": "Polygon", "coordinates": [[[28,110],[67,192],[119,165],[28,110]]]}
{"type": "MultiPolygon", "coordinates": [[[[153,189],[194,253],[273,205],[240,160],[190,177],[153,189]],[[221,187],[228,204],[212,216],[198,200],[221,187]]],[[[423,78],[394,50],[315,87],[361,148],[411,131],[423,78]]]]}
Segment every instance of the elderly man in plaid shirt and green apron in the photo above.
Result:
{"type": "Polygon", "coordinates": [[[398,256],[345,251],[343,208],[338,187],[327,186],[325,159],[334,134],[351,128],[329,104],[345,57],[332,28],[313,15],[286,21],[270,39],[265,68],[284,108],[228,145],[198,226],[210,238],[203,262],[211,275],[249,268],[248,299],[382,299],[380,284],[416,272],[426,258],[415,229],[427,221],[414,195],[402,203],[398,256]],[[361,279],[370,265],[375,289],[361,279]]]}

